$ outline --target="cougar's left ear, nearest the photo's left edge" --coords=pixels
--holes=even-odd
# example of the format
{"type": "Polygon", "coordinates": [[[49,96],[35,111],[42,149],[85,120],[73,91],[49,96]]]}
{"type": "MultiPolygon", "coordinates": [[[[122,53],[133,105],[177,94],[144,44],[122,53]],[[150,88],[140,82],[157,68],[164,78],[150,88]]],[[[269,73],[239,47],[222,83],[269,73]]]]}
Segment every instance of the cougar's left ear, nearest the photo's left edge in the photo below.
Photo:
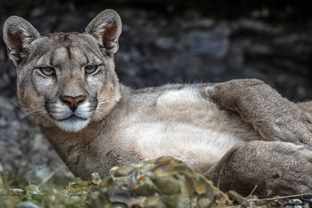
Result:
{"type": "Polygon", "coordinates": [[[3,40],[7,45],[9,58],[17,66],[32,41],[40,36],[39,32],[21,17],[12,16],[3,26],[3,40]]]}

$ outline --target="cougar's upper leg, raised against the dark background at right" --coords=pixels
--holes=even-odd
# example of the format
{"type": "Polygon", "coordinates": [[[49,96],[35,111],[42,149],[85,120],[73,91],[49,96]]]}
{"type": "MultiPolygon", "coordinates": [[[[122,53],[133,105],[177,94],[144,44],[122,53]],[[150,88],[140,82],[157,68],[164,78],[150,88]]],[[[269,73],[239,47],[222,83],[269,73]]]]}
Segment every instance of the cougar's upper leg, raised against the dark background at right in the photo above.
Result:
{"type": "Polygon", "coordinates": [[[236,111],[268,141],[312,148],[312,113],[283,98],[261,80],[232,80],[208,88],[223,108],[236,111]]]}

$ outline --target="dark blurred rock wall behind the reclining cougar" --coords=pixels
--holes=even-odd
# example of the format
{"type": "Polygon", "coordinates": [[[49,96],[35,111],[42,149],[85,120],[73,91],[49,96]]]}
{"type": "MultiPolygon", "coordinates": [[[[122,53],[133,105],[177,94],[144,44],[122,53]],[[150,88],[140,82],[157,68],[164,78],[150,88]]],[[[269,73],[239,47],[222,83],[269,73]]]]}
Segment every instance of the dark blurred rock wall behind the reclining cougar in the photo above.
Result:
{"type": "MultiPolygon", "coordinates": [[[[112,8],[123,22],[115,64],[125,85],[258,78],[290,100],[304,101],[312,98],[308,2],[0,0],[0,27],[17,15],[41,34],[83,31],[99,12],[112,8]]],[[[16,184],[25,181],[31,164],[36,183],[61,160],[29,118],[19,119],[25,112],[11,101],[18,103],[16,72],[2,34],[0,66],[0,162],[16,184]]],[[[70,177],[63,168],[46,186],[70,177]]]]}

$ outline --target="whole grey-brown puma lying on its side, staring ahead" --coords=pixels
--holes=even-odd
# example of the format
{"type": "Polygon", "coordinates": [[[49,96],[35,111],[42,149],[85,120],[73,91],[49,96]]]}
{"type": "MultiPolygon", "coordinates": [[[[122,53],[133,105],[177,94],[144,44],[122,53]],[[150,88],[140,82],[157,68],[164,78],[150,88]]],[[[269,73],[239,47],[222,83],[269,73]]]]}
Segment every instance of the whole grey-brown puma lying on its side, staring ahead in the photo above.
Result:
{"type": "Polygon", "coordinates": [[[222,191],[312,192],[311,101],[256,79],[132,89],[115,73],[120,33],[113,10],[82,33],[4,24],[20,103],[77,177],[168,155],[222,191]]]}

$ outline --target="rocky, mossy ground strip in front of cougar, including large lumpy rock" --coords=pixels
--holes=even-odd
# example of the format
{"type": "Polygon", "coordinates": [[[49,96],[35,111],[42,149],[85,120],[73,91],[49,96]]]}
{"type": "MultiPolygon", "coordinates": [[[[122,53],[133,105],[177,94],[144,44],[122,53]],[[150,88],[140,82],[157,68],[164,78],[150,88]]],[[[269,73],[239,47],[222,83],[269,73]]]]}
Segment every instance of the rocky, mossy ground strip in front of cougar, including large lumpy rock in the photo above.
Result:
{"type": "MultiPolygon", "coordinates": [[[[1,173],[0,173],[1,174],[1,173]]],[[[304,197],[304,196],[301,196],[304,197]]],[[[252,193],[246,198],[236,191],[221,192],[183,162],[161,157],[112,168],[103,180],[97,173],[88,181],[75,178],[65,189],[40,189],[30,184],[23,189],[1,187],[0,207],[107,207],[107,208],[311,208],[312,201],[273,197],[259,199],[252,193]]]]}

